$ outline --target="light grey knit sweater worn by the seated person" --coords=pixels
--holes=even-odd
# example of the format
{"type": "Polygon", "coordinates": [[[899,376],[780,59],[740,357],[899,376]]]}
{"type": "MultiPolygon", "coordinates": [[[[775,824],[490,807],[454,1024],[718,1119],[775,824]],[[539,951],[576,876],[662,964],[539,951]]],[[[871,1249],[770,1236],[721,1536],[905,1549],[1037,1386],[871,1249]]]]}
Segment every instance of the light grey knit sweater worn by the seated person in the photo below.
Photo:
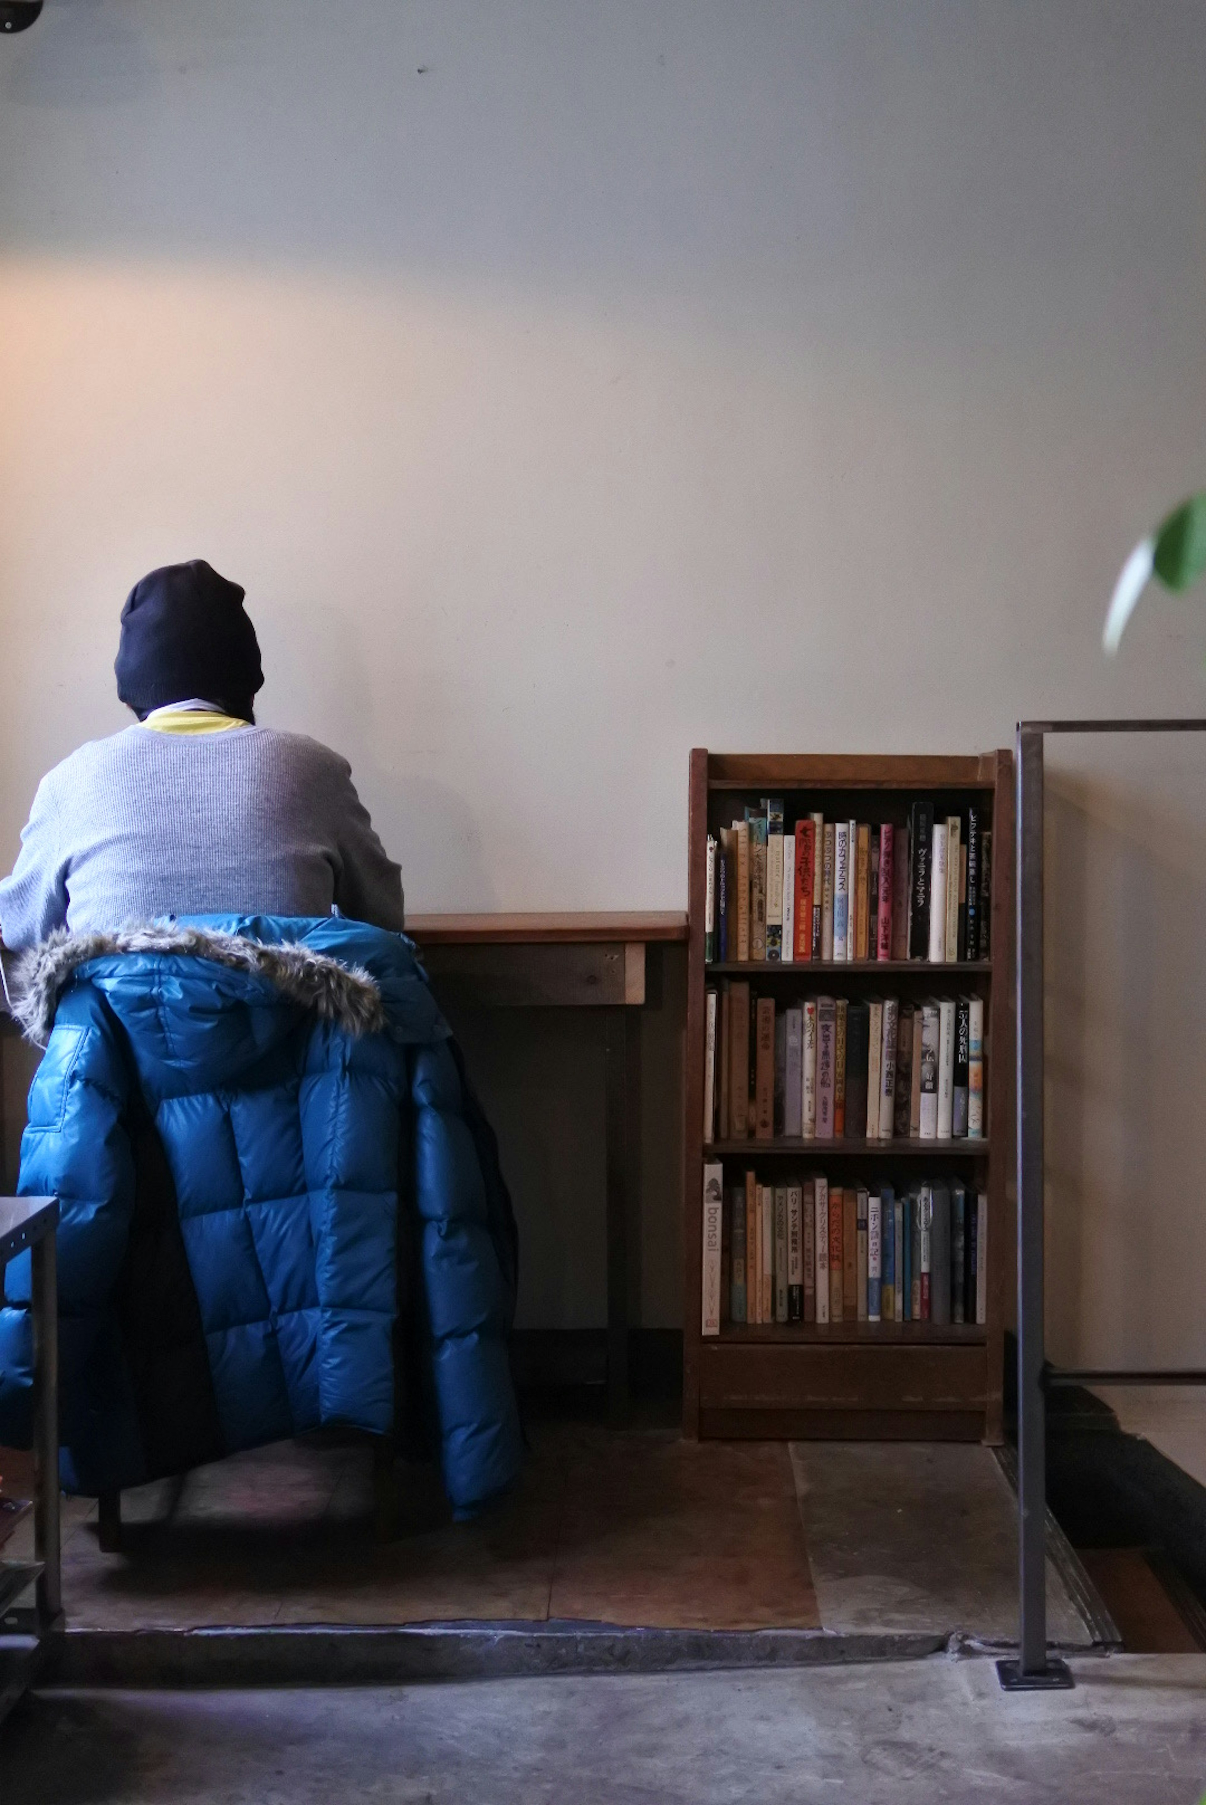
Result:
{"type": "Polygon", "coordinates": [[[401,870],[336,753],[300,733],[126,727],[38,785],[0,935],[161,915],[343,915],[403,926],[401,870]]]}

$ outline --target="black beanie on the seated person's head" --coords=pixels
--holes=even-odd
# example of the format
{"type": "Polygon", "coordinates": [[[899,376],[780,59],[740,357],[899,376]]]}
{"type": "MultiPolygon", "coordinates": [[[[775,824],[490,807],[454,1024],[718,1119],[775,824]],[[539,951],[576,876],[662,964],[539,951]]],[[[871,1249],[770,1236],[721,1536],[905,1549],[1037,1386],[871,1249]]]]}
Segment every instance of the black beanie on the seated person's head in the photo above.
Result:
{"type": "Polygon", "coordinates": [[[249,718],[264,671],[244,594],[204,558],[135,583],[121,610],[119,699],[139,717],[202,697],[249,718]]]}

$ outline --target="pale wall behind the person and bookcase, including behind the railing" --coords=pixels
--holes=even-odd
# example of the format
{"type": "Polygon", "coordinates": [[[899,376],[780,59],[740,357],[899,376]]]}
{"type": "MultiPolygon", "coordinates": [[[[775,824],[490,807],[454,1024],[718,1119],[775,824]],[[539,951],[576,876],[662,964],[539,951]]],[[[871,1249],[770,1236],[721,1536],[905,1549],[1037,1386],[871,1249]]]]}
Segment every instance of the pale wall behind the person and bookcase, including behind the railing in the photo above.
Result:
{"type": "MultiPolygon", "coordinates": [[[[691,744],[1206,711],[1201,603],[1099,655],[1206,475],[1204,193],[1193,0],[49,0],[0,42],[5,856],[188,556],[412,908],[681,906],[691,744]]],[[[1078,751],[1053,816],[1062,1354],[1206,1356],[1193,756],[1078,751]]]]}

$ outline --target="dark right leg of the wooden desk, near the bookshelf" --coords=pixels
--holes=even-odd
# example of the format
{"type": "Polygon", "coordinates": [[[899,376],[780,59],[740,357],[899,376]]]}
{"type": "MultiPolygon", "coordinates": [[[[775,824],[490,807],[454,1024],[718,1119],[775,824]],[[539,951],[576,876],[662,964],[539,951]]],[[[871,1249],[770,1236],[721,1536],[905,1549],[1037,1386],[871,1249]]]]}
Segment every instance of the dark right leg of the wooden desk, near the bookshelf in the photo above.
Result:
{"type": "Polygon", "coordinates": [[[607,1413],[628,1421],[628,1328],[639,1316],[641,1014],[607,1011],[607,1413]]]}

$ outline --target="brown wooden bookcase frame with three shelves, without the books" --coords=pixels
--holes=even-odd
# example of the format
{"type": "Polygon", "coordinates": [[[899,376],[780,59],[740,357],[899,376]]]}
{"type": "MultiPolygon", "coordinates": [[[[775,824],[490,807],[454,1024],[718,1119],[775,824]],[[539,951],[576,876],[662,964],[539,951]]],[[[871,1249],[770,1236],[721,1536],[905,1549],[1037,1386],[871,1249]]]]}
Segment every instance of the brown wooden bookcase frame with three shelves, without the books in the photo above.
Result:
{"type": "MultiPolygon", "coordinates": [[[[682,1428],[688,1437],[988,1440],[1002,1439],[1004,1325],[1011,1238],[1013,1152],[1013,754],[960,758],[756,756],[693,751],[690,765],[688,1016],[684,1144],[682,1428]],[[979,800],[993,830],[991,957],[928,960],[706,962],[708,834],[746,803],[782,796],[787,827],[809,810],[825,819],[903,825],[914,800],[957,814],[979,800]],[[704,1144],[706,991],[724,977],[751,980],[784,1005],[805,995],[903,998],[955,989],[986,1002],[982,1141],[715,1141],[704,1144]],[[988,1191],[988,1298],[982,1325],[726,1323],[700,1334],[702,1170],[724,1162],[726,1188],[746,1170],[800,1175],[830,1166],[863,1184],[935,1173],[988,1191]]],[[[778,1182],[778,1180],[776,1180],[778,1182]]]]}

